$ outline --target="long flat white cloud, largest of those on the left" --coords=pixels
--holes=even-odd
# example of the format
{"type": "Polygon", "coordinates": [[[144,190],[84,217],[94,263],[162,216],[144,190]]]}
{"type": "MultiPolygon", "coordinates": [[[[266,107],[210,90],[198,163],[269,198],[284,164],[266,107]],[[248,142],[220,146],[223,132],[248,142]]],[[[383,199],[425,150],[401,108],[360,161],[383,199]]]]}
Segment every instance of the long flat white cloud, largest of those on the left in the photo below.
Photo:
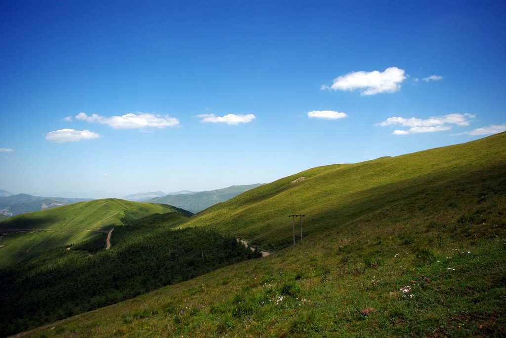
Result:
{"type": "Polygon", "coordinates": [[[88,116],[79,113],[75,116],[77,120],[90,123],[107,124],[114,129],[137,129],[137,128],[165,128],[179,125],[179,120],[168,115],[155,115],[149,113],[129,113],[122,116],[104,117],[97,114],[88,116]]]}

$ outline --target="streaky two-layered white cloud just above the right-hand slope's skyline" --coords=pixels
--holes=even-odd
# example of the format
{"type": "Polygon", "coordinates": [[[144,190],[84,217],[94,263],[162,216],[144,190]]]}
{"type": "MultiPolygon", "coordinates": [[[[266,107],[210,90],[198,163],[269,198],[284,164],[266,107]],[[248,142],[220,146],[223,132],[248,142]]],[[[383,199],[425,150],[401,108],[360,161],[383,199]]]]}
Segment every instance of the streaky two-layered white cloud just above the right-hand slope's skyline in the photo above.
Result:
{"type": "Polygon", "coordinates": [[[393,132],[394,135],[407,135],[422,132],[436,132],[451,129],[453,126],[469,126],[469,119],[475,118],[472,114],[448,114],[444,116],[430,117],[428,119],[418,119],[411,117],[409,119],[395,116],[389,117],[386,121],[376,123],[375,126],[401,126],[408,129],[398,129],[393,132]]]}

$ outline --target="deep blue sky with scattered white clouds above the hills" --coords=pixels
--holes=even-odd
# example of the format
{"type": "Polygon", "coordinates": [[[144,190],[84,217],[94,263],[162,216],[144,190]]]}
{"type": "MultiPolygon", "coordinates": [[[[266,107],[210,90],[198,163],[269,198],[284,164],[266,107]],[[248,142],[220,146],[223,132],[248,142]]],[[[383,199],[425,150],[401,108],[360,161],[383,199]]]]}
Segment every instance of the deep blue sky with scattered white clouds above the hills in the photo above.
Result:
{"type": "Polygon", "coordinates": [[[0,189],[210,190],[504,131],[505,14],[500,1],[4,0],[0,189]]]}

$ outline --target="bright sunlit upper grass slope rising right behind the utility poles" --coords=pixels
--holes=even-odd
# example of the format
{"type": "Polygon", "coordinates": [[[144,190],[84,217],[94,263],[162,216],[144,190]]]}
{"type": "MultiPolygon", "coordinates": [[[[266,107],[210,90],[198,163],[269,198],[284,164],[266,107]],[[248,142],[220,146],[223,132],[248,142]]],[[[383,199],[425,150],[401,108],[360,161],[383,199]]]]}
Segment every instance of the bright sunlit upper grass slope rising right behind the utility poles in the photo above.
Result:
{"type": "Polygon", "coordinates": [[[340,226],[459,175],[504,165],[504,144],[506,134],[500,134],[395,158],[309,169],[209,208],[183,226],[212,226],[279,250],[292,243],[287,215],[307,215],[305,235],[340,226]],[[303,176],[307,179],[290,183],[303,176]]]}

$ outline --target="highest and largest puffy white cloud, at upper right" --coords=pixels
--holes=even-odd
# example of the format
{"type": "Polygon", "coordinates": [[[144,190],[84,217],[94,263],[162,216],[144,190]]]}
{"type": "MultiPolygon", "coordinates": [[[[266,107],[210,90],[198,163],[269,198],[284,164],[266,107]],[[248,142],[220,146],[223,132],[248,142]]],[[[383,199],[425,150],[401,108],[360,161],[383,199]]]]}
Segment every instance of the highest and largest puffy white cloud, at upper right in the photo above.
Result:
{"type": "Polygon", "coordinates": [[[334,79],[332,85],[322,85],[321,89],[355,90],[360,89],[361,95],[373,95],[382,92],[395,92],[404,81],[404,69],[390,67],[383,72],[352,72],[334,79]]]}

